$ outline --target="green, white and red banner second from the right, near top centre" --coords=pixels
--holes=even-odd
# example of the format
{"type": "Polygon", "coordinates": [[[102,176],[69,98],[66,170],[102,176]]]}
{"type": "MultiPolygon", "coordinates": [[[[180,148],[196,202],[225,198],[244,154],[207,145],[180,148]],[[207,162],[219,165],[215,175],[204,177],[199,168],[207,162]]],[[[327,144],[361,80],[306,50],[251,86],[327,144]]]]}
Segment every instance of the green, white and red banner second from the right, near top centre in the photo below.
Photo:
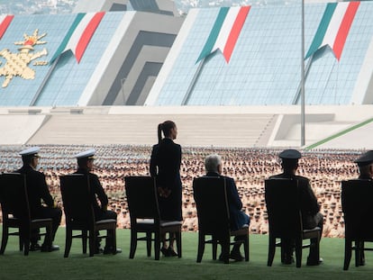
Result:
{"type": "Polygon", "coordinates": [[[250,6],[220,8],[213,29],[196,62],[205,59],[210,53],[219,49],[223,52],[224,59],[228,63],[249,11],[250,6]]]}

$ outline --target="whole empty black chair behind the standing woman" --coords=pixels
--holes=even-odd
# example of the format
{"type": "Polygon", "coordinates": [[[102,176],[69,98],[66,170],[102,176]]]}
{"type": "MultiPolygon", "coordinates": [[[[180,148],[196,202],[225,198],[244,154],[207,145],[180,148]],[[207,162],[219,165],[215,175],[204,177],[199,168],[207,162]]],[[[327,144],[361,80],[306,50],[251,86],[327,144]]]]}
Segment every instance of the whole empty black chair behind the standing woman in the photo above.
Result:
{"type": "Polygon", "coordinates": [[[124,181],[131,217],[130,258],[135,255],[137,241],[146,241],[147,255],[150,257],[151,241],[154,241],[155,259],[159,260],[161,237],[166,233],[175,233],[177,256],[181,257],[182,221],[160,220],[155,179],[150,176],[126,176],[124,181]],[[145,233],[145,236],[138,237],[138,233],[145,233]]]}

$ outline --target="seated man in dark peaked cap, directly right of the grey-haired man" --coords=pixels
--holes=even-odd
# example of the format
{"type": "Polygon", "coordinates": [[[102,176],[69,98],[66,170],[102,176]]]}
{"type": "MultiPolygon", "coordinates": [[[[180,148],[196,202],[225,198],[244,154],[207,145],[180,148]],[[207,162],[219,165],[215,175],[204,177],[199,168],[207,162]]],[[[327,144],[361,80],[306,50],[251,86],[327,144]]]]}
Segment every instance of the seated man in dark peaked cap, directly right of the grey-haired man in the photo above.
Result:
{"type": "MultiPolygon", "coordinates": [[[[320,211],[320,205],[317,202],[314,191],[311,188],[310,181],[304,176],[296,176],[296,169],[298,168],[298,159],[301,158],[301,153],[296,149],[286,149],[279,154],[281,158],[281,167],[283,173],[276,176],[270,176],[270,179],[274,178],[293,178],[298,181],[299,190],[299,205],[301,205],[302,222],[304,229],[314,229],[319,227],[323,232],[323,214],[320,211]]],[[[286,214],[286,213],[284,213],[286,214]]],[[[311,239],[310,254],[307,257],[307,266],[318,266],[323,259],[318,257],[316,254],[315,242],[317,240],[311,239]]],[[[281,240],[282,249],[285,250],[285,259],[281,261],[285,264],[291,264],[294,262],[293,251],[295,240],[281,240]]]]}

